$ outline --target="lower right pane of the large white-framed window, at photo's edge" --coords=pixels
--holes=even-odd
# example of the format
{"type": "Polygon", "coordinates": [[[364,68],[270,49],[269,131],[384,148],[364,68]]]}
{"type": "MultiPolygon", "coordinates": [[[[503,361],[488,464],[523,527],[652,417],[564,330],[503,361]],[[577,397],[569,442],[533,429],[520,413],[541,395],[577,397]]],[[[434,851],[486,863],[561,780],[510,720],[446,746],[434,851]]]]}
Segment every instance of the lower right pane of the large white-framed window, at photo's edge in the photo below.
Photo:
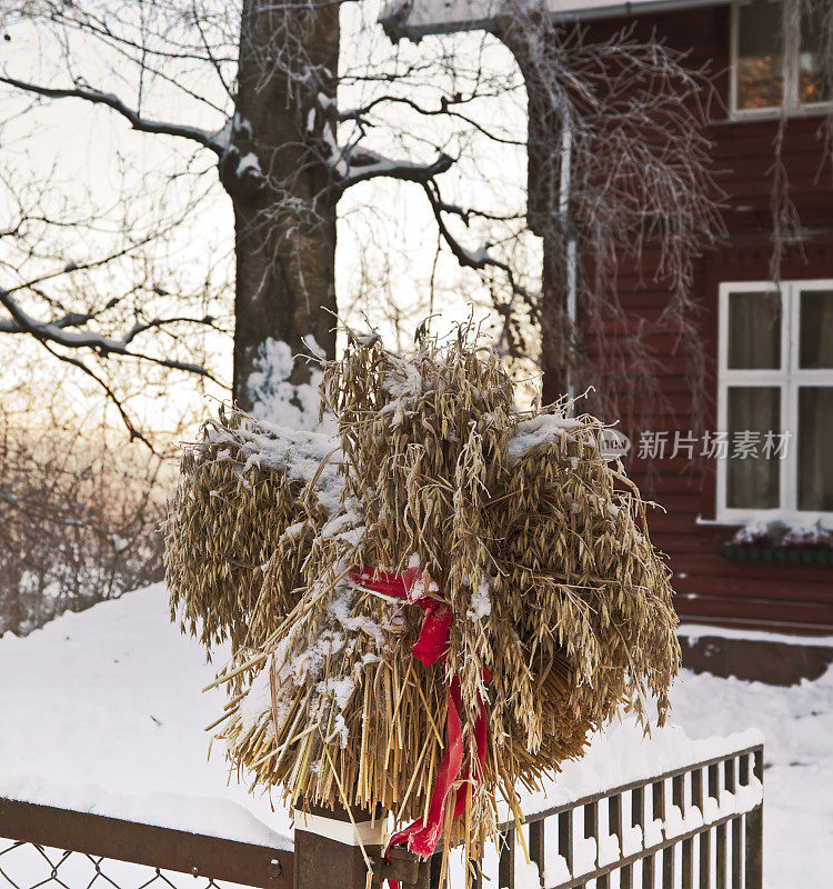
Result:
{"type": "Polygon", "coordinates": [[[799,389],[799,509],[833,511],[833,387],[799,389]]]}

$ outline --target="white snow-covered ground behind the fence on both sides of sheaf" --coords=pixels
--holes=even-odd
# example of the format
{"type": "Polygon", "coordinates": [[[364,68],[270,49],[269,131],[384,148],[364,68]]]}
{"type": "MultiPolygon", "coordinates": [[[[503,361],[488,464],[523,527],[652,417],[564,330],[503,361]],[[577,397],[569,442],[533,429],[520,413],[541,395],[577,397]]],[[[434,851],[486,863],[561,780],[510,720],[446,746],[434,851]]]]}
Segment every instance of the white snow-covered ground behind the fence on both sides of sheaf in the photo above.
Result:
{"type": "MultiPolygon", "coordinates": [[[[218,658],[221,658],[221,652],[218,658]]],[[[287,847],[289,816],[228,780],[200,693],[213,667],[169,622],[161,585],[0,639],[0,797],[287,847]]],[[[833,858],[833,670],[790,689],[684,673],[674,726],[642,741],[629,720],[554,779],[544,805],[720,752],[766,743],[767,889],[829,885],[833,858]],[[742,732],[729,741],[710,736],[742,732]]],[[[541,800],[525,800],[526,808],[541,800]]]]}

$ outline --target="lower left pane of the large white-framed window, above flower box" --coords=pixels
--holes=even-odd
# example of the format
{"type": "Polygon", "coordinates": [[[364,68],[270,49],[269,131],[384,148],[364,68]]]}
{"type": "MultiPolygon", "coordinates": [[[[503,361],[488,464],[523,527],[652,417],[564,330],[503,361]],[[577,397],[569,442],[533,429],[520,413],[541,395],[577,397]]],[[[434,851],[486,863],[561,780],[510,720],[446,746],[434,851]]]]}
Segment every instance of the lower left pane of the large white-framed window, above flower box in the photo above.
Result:
{"type": "MultiPolygon", "coordinates": [[[[756,456],[730,459],[726,467],[726,506],[730,509],[777,509],[781,461],[763,455],[767,432],[781,431],[781,390],[776,386],[730,387],[727,392],[730,442],[737,433],[759,433],[756,456]]],[[[730,451],[731,452],[731,451],[730,451]]]]}

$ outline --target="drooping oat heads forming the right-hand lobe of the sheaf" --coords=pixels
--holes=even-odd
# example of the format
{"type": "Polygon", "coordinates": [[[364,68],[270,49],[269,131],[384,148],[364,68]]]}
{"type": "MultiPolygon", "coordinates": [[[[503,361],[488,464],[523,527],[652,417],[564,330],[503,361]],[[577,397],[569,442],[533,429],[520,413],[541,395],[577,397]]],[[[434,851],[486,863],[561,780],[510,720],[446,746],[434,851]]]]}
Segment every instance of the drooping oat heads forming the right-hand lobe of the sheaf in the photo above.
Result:
{"type": "Polygon", "coordinates": [[[600,452],[602,426],[590,417],[549,424],[554,434],[522,453],[491,511],[493,538],[503,533],[491,636],[511,640],[493,670],[493,718],[511,706],[515,736],[535,757],[552,742],[543,726],[556,727],[572,756],[586,728],[620,706],[644,719],[648,693],[662,723],[680,657],[671,573],[650,543],[639,495],[600,452]],[[541,677],[554,675],[569,693],[541,695],[541,677]]]}

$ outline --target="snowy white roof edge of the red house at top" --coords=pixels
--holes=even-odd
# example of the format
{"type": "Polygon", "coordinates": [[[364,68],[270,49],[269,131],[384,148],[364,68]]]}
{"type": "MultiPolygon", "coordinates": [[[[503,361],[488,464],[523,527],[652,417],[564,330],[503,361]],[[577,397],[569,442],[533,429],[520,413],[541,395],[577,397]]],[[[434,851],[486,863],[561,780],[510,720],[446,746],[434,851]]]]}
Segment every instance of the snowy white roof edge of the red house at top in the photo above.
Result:
{"type": "MultiPolygon", "coordinates": [[[[568,21],[583,21],[632,16],[642,11],[664,12],[684,7],[719,6],[721,0],[545,0],[545,3],[553,16],[568,21]]],[[[488,28],[501,16],[505,6],[505,0],[390,0],[380,20],[391,38],[408,37],[413,40],[425,34],[488,28]]]]}

